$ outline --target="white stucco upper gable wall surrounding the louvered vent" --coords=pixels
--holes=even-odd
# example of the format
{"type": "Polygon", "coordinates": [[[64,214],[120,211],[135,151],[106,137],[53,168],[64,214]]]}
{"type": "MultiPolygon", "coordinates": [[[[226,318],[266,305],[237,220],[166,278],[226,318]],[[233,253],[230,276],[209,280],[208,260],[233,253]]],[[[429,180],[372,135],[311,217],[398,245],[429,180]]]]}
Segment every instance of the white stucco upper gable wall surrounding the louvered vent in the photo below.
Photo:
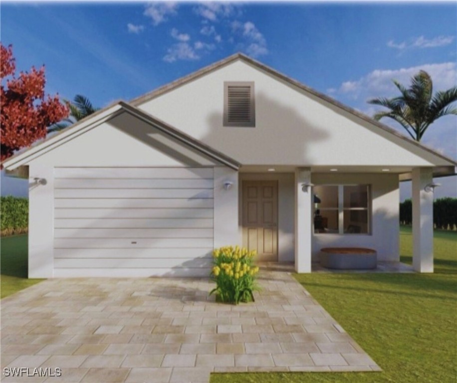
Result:
{"type": "Polygon", "coordinates": [[[430,161],[437,161],[403,140],[393,143],[391,133],[239,60],[139,108],[243,165],[430,166],[430,161]],[[255,128],[223,126],[224,81],[254,81],[255,128]],[[427,160],[415,154],[419,151],[427,160]]]}

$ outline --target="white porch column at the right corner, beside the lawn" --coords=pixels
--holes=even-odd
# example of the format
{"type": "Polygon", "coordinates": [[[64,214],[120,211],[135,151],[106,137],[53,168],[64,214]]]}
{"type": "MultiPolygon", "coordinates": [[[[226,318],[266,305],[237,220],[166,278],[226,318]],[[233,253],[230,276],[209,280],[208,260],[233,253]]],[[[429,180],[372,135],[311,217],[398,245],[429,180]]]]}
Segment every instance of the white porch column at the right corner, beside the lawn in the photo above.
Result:
{"type": "Polygon", "coordinates": [[[426,192],[433,181],[431,168],[413,169],[413,268],[433,273],[433,192],[426,192]]]}

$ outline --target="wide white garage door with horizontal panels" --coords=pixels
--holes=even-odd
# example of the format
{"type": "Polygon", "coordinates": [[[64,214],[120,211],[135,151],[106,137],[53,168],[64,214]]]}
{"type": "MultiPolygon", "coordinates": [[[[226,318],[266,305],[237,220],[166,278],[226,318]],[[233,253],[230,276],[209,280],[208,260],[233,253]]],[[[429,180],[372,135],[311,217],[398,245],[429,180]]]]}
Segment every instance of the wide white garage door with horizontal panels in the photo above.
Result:
{"type": "Polygon", "coordinates": [[[207,276],[213,168],[55,168],[54,276],[207,276]]]}

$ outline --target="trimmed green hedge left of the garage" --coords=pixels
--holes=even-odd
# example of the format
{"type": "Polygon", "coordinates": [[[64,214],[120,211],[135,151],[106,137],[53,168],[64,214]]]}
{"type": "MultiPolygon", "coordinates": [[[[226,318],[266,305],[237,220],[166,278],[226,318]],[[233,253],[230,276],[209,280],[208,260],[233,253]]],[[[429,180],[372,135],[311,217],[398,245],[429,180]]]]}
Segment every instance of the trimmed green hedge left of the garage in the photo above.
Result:
{"type": "Polygon", "coordinates": [[[0,197],[0,235],[28,231],[28,198],[8,195],[0,197]]]}

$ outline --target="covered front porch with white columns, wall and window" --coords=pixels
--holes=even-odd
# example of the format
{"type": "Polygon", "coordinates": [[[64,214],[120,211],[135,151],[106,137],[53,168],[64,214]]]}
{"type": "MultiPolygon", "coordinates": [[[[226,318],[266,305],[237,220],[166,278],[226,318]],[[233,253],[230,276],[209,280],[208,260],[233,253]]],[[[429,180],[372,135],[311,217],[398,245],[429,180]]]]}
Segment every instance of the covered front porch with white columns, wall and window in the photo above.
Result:
{"type": "Polygon", "coordinates": [[[319,263],[322,248],[364,247],[377,252],[372,272],[433,272],[433,177],[431,167],[243,167],[239,235],[246,245],[243,185],[273,180],[278,193],[277,255],[260,257],[260,262],[293,265],[299,273],[329,272],[319,263]],[[413,181],[413,266],[400,262],[399,250],[399,182],[409,176],[413,181]],[[325,225],[317,227],[317,214],[325,225]]]}

